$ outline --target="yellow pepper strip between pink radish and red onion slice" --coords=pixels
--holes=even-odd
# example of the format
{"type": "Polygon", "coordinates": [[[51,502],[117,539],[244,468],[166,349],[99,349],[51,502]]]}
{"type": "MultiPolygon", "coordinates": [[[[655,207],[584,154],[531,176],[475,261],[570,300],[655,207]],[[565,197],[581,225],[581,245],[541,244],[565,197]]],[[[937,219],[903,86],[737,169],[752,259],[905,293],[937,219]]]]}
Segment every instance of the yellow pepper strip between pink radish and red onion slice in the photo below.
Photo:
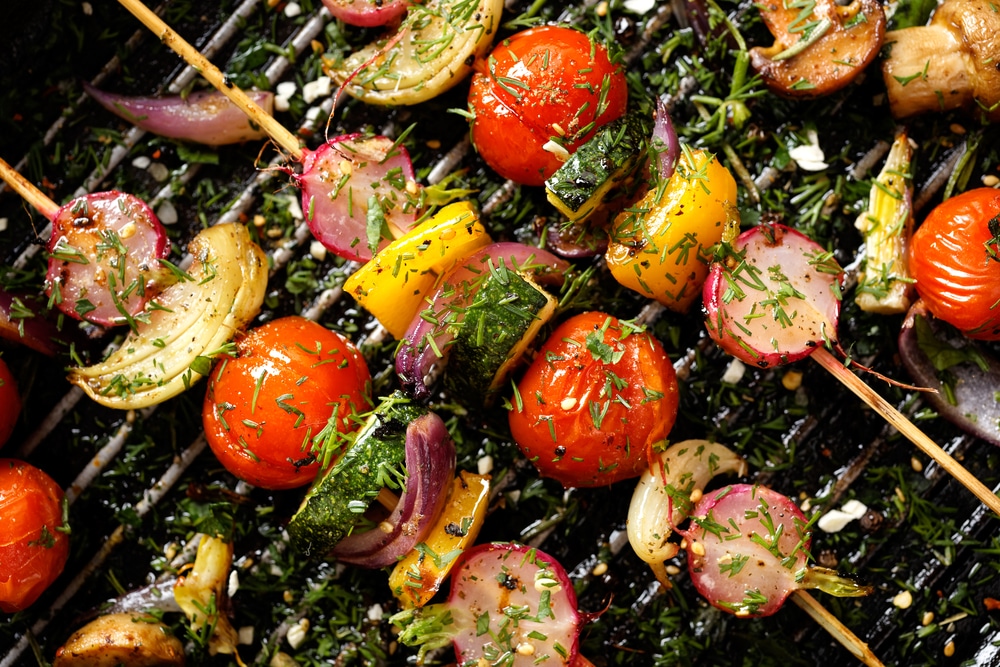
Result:
{"type": "Polygon", "coordinates": [[[438,276],[491,242],[472,204],[449,204],[355,271],[344,291],[402,338],[438,276]]]}

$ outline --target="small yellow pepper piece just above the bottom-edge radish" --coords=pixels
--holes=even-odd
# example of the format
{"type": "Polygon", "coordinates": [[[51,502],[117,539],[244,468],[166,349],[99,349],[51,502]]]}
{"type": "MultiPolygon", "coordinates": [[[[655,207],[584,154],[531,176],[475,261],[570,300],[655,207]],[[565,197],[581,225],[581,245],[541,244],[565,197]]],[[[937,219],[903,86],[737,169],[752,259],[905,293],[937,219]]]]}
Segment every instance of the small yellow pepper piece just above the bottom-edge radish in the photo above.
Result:
{"type": "Polygon", "coordinates": [[[389,588],[407,609],[423,607],[448,577],[458,556],[475,543],[486,519],[489,475],[464,470],[455,478],[447,504],[427,538],[389,575],[389,588]]]}

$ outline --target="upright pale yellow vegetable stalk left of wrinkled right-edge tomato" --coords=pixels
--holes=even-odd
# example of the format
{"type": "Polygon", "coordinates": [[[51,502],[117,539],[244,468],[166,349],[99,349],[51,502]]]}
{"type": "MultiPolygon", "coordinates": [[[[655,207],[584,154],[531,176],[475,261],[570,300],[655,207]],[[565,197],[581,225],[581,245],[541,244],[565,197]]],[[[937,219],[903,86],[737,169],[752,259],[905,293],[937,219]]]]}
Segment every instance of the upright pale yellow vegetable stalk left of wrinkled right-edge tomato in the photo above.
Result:
{"type": "Polygon", "coordinates": [[[854,223],[865,235],[865,265],[854,302],[869,313],[899,315],[913,301],[914,280],[907,263],[913,236],[912,161],[913,147],[903,130],[872,182],[868,210],[854,223]]]}

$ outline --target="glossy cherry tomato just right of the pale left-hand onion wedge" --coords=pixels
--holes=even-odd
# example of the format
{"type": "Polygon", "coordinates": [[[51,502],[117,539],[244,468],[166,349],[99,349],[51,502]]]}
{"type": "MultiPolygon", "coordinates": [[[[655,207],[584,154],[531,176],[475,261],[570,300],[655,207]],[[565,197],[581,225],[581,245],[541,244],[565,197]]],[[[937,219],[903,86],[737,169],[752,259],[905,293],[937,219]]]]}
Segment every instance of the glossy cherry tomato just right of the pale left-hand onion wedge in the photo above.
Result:
{"type": "Polygon", "coordinates": [[[336,449],[370,406],[361,353],[303,317],[250,331],[210,377],[202,406],[208,444],[229,472],[266,489],[311,482],[323,451],[336,449]]]}

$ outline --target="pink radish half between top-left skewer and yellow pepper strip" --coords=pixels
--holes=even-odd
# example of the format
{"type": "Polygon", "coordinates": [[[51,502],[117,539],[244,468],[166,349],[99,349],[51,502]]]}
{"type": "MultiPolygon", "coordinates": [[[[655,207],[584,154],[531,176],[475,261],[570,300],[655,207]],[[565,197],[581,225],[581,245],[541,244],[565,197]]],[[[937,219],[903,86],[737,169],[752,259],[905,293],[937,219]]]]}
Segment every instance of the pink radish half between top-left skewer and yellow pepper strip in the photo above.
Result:
{"type": "Polygon", "coordinates": [[[367,262],[373,247],[402,236],[417,220],[409,153],[387,137],[348,134],[307,153],[302,210],[320,243],[346,259],[367,262]]]}

